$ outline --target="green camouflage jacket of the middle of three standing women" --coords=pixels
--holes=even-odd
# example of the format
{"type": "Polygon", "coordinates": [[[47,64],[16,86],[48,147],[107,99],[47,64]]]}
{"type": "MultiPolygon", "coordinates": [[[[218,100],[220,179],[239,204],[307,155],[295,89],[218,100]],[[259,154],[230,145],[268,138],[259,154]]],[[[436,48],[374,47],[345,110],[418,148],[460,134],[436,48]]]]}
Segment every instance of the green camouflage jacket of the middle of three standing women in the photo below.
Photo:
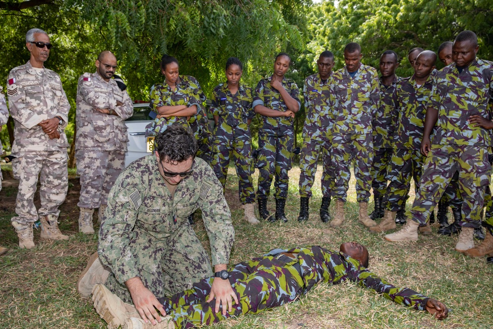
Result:
{"type": "Polygon", "coordinates": [[[251,107],[252,90],[250,87],[240,84],[238,92],[232,95],[227,83],[221,83],[214,88],[212,93],[211,112],[218,116],[215,129],[216,136],[225,136],[229,139],[246,138],[250,140],[248,119],[255,116],[251,107]]]}

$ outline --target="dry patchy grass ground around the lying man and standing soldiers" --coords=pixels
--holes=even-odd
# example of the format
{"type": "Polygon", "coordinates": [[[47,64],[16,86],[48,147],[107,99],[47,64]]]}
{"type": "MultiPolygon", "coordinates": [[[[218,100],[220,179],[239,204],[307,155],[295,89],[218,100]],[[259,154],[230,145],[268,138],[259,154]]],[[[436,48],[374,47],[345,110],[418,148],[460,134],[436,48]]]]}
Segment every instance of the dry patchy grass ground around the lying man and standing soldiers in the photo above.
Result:
{"type": "MultiPolygon", "coordinates": [[[[433,235],[421,236],[417,242],[392,244],[384,241],[383,234],[370,234],[357,221],[353,180],[346,203],[346,222],[331,228],[318,217],[320,171],[310,200],[310,219],[300,224],[296,220],[297,167],[290,171],[290,177],[286,205],[289,222],[263,221],[251,226],[243,219],[235,171],[230,168],[226,198],[236,230],[230,264],[273,248],[320,245],[338,249],[342,242],[358,241],[370,252],[372,271],[397,286],[443,301],[452,310],[449,318],[435,321],[425,312],[393,304],[354,284],[342,284],[317,286],[299,301],[261,315],[231,319],[214,328],[493,328],[493,266],[487,265],[485,258],[468,258],[455,252],[457,236],[438,236],[433,227],[433,235]]],[[[0,192],[0,245],[10,249],[0,257],[0,328],[106,328],[91,300],[75,291],[78,275],[97,249],[96,236],[77,233],[79,188],[77,180],[71,179],[67,200],[61,208],[60,227],[71,235],[70,240],[42,243],[39,231],[35,231],[36,248],[30,251],[17,248],[17,236],[10,225],[17,189],[4,187],[0,192]]],[[[413,199],[414,195],[408,207],[413,199]]],[[[274,210],[272,198],[268,207],[274,210]]],[[[206,231],[199,221],[196,218],[194,228],[209,249],[206,231]]]]}

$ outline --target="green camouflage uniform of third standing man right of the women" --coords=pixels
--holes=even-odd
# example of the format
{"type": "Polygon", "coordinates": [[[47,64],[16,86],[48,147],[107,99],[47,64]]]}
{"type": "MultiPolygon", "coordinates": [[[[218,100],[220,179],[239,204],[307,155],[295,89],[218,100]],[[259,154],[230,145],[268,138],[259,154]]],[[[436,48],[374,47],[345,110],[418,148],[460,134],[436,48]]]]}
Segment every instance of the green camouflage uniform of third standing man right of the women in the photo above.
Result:
{"type": "Polygon", "coordinates": [[[372,188],[375,197],[382,197],[387,189],[387,171],[392,157],[392,138],[397,125],[397,110],[395,109],[395,88],[401,80],[397,75],[389,86],[382,83],[380,78],[380,101],[373,127],[373,164],[372,188]]]}

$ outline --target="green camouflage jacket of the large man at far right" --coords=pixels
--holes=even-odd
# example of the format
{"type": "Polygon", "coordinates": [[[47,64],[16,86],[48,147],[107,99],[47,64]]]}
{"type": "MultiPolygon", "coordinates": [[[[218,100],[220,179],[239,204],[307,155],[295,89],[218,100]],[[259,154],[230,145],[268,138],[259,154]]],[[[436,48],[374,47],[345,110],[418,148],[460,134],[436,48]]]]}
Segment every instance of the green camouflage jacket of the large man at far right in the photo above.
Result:
{"type": "Polygon", "coordinates": [[[490,146],[490,132],[467,121],[478,114],[490,118],[493,63],[476,58],[462,73],[455,63],[438,71],[428,107],[438,110],[433,144],[490,146]]]}

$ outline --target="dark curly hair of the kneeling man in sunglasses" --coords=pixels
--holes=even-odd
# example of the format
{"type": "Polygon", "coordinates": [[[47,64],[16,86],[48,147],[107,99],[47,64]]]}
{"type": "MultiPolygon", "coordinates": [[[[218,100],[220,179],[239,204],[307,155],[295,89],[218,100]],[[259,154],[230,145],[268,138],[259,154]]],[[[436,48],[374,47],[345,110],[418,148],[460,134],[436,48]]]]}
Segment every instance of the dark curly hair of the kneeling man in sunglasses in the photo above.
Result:
{"type": "Polygon", "coordinates": [[[156,136],[155,147],[161,161],[178,163],[195,158],[198,145],[189,128],[171,125],[156,136]]]}

